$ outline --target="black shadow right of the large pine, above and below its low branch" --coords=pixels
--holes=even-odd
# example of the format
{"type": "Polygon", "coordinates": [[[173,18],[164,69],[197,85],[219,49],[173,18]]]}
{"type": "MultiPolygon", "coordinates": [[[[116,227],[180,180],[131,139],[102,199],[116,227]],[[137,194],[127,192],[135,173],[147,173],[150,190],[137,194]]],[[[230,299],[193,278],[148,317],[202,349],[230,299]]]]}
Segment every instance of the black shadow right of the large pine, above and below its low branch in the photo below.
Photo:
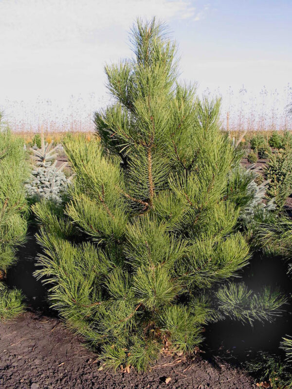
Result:
{"type": "MultiPolygon", "coordinates": [[[[292,281],[287,275],[287,266],[281,258],[255,254],[250,265],[244,271],[241,280],[252,290],[259,292],[263,286],[279,288],[289,297],[292,293],[292,281]]],[[[292,309],[284,306],[281,316],[273,322],[255,321],[241,324],[231,319],[208,325],[205,332],[206,356],[220,355],[229,363],[246,362],[256,356],[258,351],[282,355],[280,341],[291,334],[292,309]]]]}

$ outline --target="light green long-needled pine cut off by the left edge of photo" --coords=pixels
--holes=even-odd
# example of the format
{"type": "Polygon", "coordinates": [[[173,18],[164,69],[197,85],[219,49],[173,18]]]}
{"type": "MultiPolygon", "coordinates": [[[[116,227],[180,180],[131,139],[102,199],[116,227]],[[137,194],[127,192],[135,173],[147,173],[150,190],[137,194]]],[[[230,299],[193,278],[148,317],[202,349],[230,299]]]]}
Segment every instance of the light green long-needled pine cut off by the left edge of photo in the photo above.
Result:
{"type": "Polygon", "coordinates": [[[27,205],[23,183],[27,177],[23,141],[8,130],[0,132],[0,320],[23,311],[22,295],[5,285],[6,272],[16,261],[16,251],[27,230],[27,205]]]}

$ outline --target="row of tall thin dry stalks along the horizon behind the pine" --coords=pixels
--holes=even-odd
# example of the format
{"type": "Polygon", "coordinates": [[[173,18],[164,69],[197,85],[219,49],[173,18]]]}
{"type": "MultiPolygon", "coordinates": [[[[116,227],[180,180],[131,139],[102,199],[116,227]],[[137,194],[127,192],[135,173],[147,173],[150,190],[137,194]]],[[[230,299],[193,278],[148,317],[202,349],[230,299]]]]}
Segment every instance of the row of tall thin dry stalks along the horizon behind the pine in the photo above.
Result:
{"type": "MultiPolygon", "coordinates": [[[[285,107],[292,102],[292,87],[288,84],[281,92],[268,91],[265,87],[256,95],[244,86],[237,92],[229,88],[224,93],[217,89],[206,89],[203,94],[222,96],[222,127],[227,131],[272,131],[291,130],[292,118],[285,107]]],[[[5,100],[0,101],[0,110],[5,112],[5,120],[13,131],[26,138],[40,132],[57,133],[85,132],[94,130],[93,112],[105,107],[109,98],[91,93],[88,96],[71,96],[67,103],[57,104],[48,99],[38,98],[34,103],[5,100]],[[2,104],[1,104],[2,103],[2,104]],[[26,135],[27,133],[27,135],[26,135]]],[[[49,136],[49,135],[48,135],[49,136]]],[[[238,134],[236,135],[238,138],[238,134]]]]}

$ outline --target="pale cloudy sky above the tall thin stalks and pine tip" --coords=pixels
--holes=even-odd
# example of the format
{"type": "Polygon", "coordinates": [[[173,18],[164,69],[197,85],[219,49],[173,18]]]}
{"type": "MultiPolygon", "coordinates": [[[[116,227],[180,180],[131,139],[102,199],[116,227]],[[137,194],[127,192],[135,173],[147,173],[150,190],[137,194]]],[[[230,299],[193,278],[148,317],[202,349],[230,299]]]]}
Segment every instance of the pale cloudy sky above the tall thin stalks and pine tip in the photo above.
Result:
{"type": "Polygon", "coordinates": [[[291,0],[0,0],[0,106],[106,95],[105,63],[131,56],[130,25],[154,15],[200,91],[292,84],[291,0]]]}

